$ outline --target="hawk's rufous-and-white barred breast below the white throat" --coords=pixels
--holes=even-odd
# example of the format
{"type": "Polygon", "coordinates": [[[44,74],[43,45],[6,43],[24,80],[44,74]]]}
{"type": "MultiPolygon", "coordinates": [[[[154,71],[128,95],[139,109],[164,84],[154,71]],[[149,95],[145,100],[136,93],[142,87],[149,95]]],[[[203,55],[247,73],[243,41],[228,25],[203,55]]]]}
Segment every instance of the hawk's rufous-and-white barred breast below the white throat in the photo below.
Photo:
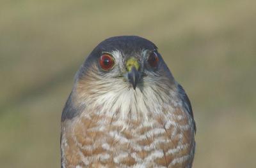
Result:
{"type": "Polygon", "coordinates": [[[177,85],[168,98],[155,102],[159,104],[156,107],[145,102],[149,100],[142,99],[138,91],[137,108],[129,104],[127,111],[121,110],[120,104],[119,108],[104,108],[106,104],[92,100],[93,108],[84,106],[79,117],[61,123],[61,166],[191,167],[195,122],[183,92],[177,85]]]}

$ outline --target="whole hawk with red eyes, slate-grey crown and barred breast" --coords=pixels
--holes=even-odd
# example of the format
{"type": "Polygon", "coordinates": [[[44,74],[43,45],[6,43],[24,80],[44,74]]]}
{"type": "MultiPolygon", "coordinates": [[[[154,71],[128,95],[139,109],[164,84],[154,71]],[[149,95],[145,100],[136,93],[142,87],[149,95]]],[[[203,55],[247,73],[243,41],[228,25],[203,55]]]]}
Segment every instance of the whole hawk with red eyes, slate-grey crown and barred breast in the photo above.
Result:
{"type": "Polygon", "coordinates": [[[108,38],[76,73],[61,115],[61,167],[192,167],[195,130],[157,46],[108,38]]]}

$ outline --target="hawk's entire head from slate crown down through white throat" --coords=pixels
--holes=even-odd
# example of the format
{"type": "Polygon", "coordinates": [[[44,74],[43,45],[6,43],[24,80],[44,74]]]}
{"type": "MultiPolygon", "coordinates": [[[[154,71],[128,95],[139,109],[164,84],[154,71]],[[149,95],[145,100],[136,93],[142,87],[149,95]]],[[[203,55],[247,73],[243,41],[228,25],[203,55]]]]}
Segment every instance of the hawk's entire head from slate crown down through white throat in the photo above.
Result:
{"type": "Polygon", "coordinates": [[[138,36],[116,36],[90,53],[68,100],[76,108],[72,116],[86,106],[108,115],[118,111],[122,118],[142,114],[147,120],[150,111],[161,111],[163,102],[170,101],[170,90],[176,88],[154,43],[138,36]]]}

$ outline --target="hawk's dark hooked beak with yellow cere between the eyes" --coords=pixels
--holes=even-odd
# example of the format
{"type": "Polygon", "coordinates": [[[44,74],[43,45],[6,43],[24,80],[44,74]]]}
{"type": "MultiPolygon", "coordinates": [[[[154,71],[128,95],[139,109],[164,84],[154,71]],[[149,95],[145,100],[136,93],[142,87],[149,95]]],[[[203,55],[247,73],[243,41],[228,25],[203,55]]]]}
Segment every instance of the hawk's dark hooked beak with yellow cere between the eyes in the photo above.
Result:
{"type": "Polygon", "coordinates": [[[140,81],[141,74],[139,72],[140,64],[134,57],[130,57],[126,62],[126,69],[128,71],[128,80],[135,90],[138,81],[140,81]]]}

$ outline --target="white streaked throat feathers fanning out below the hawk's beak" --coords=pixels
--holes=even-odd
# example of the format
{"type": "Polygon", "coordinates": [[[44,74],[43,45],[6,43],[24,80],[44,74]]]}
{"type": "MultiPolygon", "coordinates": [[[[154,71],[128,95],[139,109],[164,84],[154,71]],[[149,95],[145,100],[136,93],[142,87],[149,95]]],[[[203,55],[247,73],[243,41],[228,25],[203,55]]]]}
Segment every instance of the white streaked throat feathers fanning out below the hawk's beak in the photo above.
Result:
{"type": "MultiPolygon", "coordinates": [[[[122,121],[129,118],[132,121],[147,122],[150,118],[163,113],[163,107],[172,101],[170,98],[173,91],[168,95],[163,92],[157,93],[157,88],[147,85],[143,88],[138,86],[134,90],[124,85],[124,81],[116,81],[116,84],[109,83],[104,88],[112,89],[101,89],[95,94],[84,95],[85,104],[90,104],[90,109],[86,111],[97,115],[115,116],[122,121]]],[[[93,88],[91,91],[93,92],[93,88]]]]}

